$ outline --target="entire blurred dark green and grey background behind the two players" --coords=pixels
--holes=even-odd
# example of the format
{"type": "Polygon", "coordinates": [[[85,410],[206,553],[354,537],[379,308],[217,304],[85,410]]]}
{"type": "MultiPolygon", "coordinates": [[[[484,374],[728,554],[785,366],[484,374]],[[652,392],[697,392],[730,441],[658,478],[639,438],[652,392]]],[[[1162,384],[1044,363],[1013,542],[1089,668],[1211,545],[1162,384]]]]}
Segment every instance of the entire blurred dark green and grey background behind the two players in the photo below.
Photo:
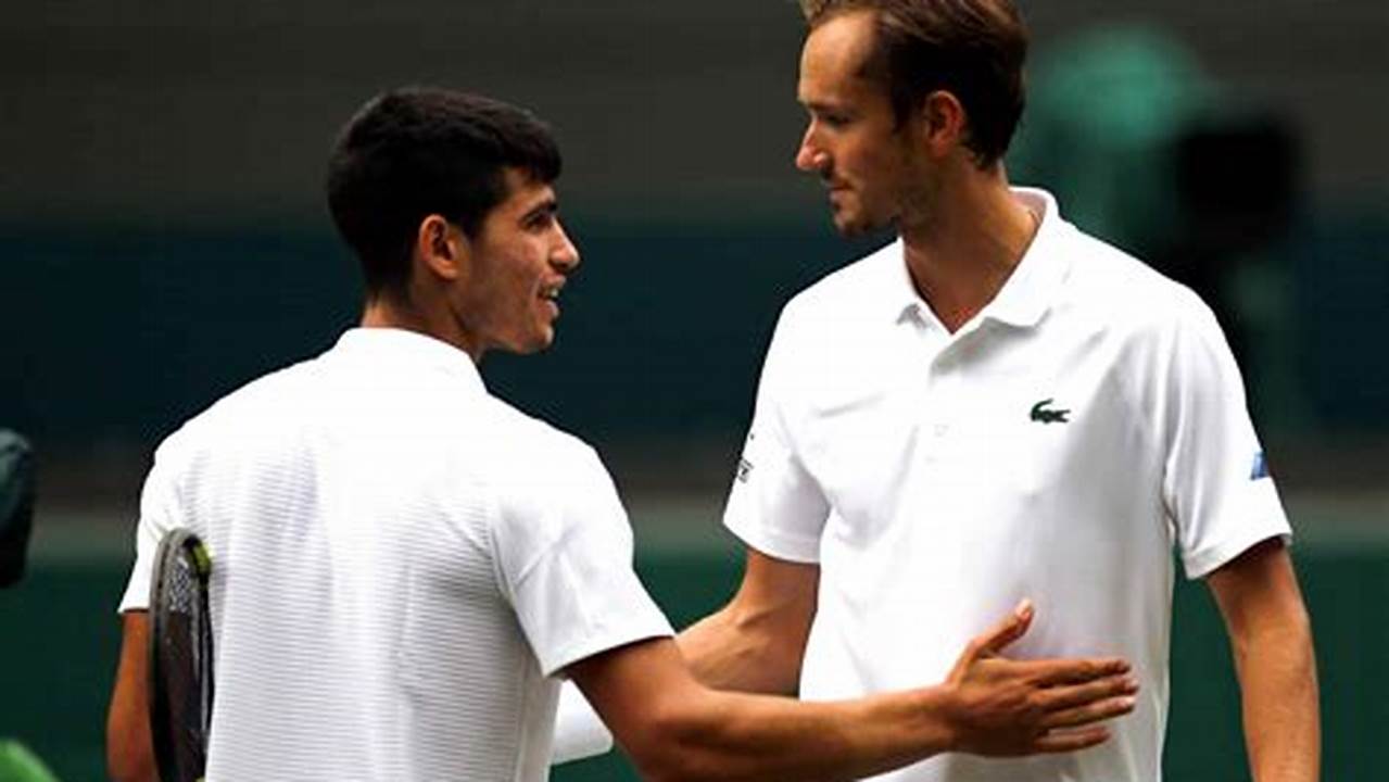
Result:
{"type": "MultiPolygon", "coordinates": [[[[1389,764],[1389,11],[1022,1],[1015,182],[1217,307],[1297,529],[1325,779],[1389,764]]],[[[874,244],[790,165],[801,26],[783,0],[7,8],[0,426],[39,449],[31,575],[0,592],[0,738],[101,778],[140,476],[179,421],[332,343],[357,311],[321,175],[372,93],[533,108],[567,156],[583,265],[553,350],[499,394],[594,443],[678,624],[731,593],[718,529],[779,306],[874,244]]],[[[881,238],[878,239],[881,240],[881,238]]],[[[1170,779],[1247,776],[1220,621],[1174,615],[1170,779]]],[[[603,758],[561,781],[625,778],[603,758]]]]}

